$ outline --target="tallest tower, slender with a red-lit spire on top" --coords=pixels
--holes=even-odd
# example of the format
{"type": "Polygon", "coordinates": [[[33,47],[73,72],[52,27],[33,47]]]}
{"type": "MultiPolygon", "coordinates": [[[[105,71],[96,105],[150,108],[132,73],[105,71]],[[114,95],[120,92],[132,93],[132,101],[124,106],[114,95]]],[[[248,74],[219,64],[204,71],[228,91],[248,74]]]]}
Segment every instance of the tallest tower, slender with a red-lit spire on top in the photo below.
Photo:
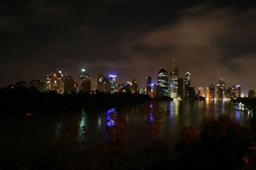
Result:
{"type": "Polygon", "coordinates": [[[172,71],[171,71],[171,82],[170,82],[170,94],[172,99],[177,99],[178,89],[178,69],[175,65],[175,59],[172,59],[172,71]]]}

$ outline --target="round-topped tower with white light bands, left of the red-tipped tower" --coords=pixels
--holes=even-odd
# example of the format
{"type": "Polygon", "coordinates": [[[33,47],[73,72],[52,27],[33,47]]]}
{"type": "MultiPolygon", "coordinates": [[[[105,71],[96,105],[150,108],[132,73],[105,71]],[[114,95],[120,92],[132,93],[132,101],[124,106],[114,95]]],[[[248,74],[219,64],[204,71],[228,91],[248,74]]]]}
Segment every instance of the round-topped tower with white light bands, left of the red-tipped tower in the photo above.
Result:
{"type": "Polygon", "coordinates": [[[161,68],[160,71],[158,71],[156,85],[160,87],[160,94],[167,96],[167,94],[168,94],[168,72],[164,68],[161,68]]]}

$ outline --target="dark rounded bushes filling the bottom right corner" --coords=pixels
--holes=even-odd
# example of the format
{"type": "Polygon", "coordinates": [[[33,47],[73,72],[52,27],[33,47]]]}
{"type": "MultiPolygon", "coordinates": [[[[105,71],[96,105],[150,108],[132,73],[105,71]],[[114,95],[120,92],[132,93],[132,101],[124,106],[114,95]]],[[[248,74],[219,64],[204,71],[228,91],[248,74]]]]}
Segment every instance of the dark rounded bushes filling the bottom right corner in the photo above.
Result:
{"type": "Polygon", "coordinates": [[[176,169],[254,169],[256,168],[255,133],[230,116],[205,117],[201,132],[184,127],[176,145],[180,153],[176,169]]]}

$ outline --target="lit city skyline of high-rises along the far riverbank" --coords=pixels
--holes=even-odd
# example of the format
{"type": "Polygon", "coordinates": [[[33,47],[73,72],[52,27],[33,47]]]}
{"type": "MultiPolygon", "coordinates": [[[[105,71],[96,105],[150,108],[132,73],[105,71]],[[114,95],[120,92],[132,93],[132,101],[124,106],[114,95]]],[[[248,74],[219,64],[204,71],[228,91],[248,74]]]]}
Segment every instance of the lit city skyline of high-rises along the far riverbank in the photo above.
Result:
{"type": "MultiPolygon", "coordinates": [[[[173,62],[174,61],[175,59],[173,59],[173,62]]],[[[73,90],[75,90],[76,92],[83,91],[88,93],[91,90],[98,90],[99,92],[110,92],[112,94],[120,91],[124,93],[130,92],[131,94],[148,94],[150,92],[151,94],[149,93],[149,95],[154,95],[154,97],[156,97],[156,94],[154,94],[156,92],[157,94],[168,96],[172,99],[194,99],[196,95],[206,97],[206,99],[212,99],[212,97],[209,98],[209,96],[211,96],[212,94],[208,94],[208,88],[214,85],[211,84],[210,86],[205,87],[205,90],[202,87],[193,87],[191,83],[191,74],[189,72],[185,72],[183,77],[178,77],[178,68],[175,65],[176,64],[174,62],[170,74],[164,68],[161,68],[160,71],[158,71],[156,82],[151,82],[151,77],[145,77],[145,83],[143,83],[142,85],[138,84],[137,79],[134,78],[132,79],[132,81],[119,82],[117,81],[117,75],[108,75],[107,77],[103,75],[98,75],[96,79],[96,88],[93,89],[91,88],[91,83],[93,82],[90,82],[90,75],[88,74],[88,71],[84,68],[80,70],[80,80],[75,80],[73,79],[73,77],[68,76],[67,72],[65,72],[64,76],[62,71],[60,71],[59,68],[56,68],[54,72],[51,72],[46,76],[46,80],[32,79],[31,81],[26,82],[26,84],[28,88],[32,88],[32,86],[35,85],[35,87],[37,87],[39,91],[44,91],[42,90],[42,88],[45,87],[46,91],[55,90],[59,94],[71,93],[73,90]],[[183,80],[185,81],[183,82],[183,80]],[[42,84],[42,82],[44,82],[44,85],[42,84]],[[86,83],[84,84],[84,82],[86,83]],[[174,86],[174,84],[176,85],[174,86]],[[156,91],[154,91],[153,87],[155,85],[160,87],[161,89],[155,89],[156,91]],[[152,88],[153,91],[148,91],[148,88],[152,88]],[[175,91],[173,91],[174,88],[175,91]],[[183,95],[183,93],[185,94],[183,95]]],[[[215,88],[215,86],[213,88],[215,88]]],[[[223,78],[220,78],[218,84],[216,84],[216,89],[217,99],[232,99],[234,97],[238,98],[240,96],[247,96],[247,93],[241,93],[241,85],[233,84],[232,86],[230,86],[229,84],[226,84],[226,82],[224,82],[223,78]]],[[[248,91],[248,95],[250,91],[252,90],[248,91]]]]}

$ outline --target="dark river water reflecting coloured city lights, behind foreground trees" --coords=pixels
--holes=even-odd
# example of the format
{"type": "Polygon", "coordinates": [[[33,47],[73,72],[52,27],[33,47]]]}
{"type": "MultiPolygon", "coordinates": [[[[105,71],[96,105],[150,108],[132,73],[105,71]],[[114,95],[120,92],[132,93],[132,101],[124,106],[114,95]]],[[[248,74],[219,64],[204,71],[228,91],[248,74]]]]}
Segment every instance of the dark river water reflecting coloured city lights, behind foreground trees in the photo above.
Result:
{"type": "MultiPolygon", "coordinates": [[[[236,122],[249,125],[251,116],[248,111],[241,111],[241,105],[223,101],[171,101],[160,104],[165,110],[170,110],[170,116],[163,120],[161,135],[171,146],[177,144],[179,133],[185,125],[200,126],[204,116],[218,117],[230,115],[236,122]]],[[[81,111],[80,127],[85,127],[90,133],[90,139],[97,139],[108,125],[108,113],[111,111],[125,116],[128,121],[127,140],[131,162],[143,160],[143,148],[147,145],[144,138],[145,118],[141,116],[142,105],[110,109],[108,111],[81,111]]],[[[13,154],[23,154],[27,151],[44,150],[67,124],[68,116],[60,113],[55,115],[7,116],[0,118],[0,157],[13,154]]]]}

